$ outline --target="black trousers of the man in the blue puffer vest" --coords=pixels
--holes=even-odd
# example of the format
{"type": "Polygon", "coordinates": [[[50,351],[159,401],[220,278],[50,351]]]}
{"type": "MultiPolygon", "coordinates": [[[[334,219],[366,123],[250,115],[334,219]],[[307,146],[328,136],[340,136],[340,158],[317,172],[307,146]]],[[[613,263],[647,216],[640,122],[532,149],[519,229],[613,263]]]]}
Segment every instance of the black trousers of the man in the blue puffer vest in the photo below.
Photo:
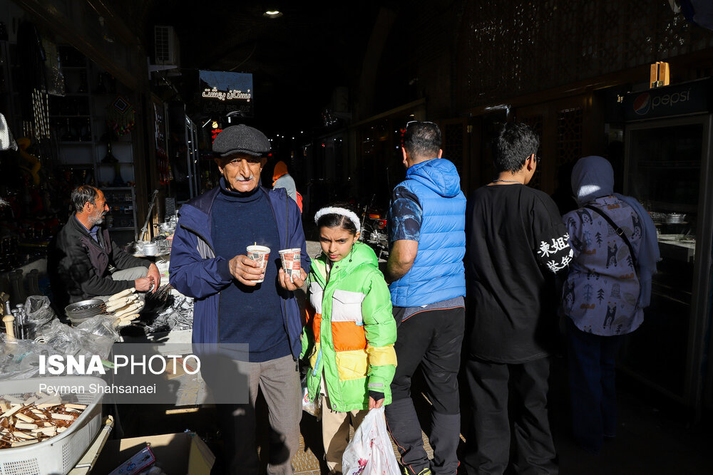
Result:
{"type": "Polygon", "coordinates": [[[391,404],[386,406],[386,424],[409,474],[431,469],[434,474],[455,475],[456,448],[461,425],[458,401],[458,368],[465,323],[463,307],[424,310],[399,325],[396,338],[396,374],[391,382],[391,404]],[[433,403],[429,442],[434,459],[424,450],[421,425],[411,400],[411,378],[419,367],[433,403]]]}

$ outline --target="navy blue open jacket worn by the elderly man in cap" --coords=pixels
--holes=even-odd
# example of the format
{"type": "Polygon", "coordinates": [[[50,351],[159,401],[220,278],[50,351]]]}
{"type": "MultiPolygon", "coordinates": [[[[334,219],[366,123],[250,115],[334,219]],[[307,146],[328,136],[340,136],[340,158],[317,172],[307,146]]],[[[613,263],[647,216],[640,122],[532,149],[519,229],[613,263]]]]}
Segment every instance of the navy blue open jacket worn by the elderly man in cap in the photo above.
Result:
{"type": "MultiPolygon", "coordinates": [[[[221,266],[225,266],[225,258],[215,257],[210,236],[210,213],[219,192],[220,187],[215,187],[184,204],[178,213],[178,226],[173,235],[170,283],[183,295],[195,298],[193,343],[219,343],[220,291],[232,282],[232,276],[225,276],[220,271],[221,266]]],[[[272,208],[282,246],[280,249],[302,249],[302,268],[309,273],[310,260],[297,203],[287,199],[284,189],[268,190],[260,187],[260,192],[267,194],[272,208]]],[[[302,350],[299,340],[302,335],[302,318],[297,300],[294,293],[289,291],[282,291],[280,297],[292,355],[299,357],[302,350]]]]}

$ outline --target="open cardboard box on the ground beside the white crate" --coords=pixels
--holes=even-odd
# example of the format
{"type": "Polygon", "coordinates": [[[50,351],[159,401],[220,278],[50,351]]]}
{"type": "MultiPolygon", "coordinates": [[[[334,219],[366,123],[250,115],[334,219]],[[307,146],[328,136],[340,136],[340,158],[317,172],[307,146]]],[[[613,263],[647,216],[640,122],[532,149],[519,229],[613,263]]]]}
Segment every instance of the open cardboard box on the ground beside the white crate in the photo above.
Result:
{"type": "Polygon", "coordinates": [[[210,475],[215,455],[194,432],[109,440],[91,474],[108,474],[150,444],[156,465],[171,475],[210,475]]]}

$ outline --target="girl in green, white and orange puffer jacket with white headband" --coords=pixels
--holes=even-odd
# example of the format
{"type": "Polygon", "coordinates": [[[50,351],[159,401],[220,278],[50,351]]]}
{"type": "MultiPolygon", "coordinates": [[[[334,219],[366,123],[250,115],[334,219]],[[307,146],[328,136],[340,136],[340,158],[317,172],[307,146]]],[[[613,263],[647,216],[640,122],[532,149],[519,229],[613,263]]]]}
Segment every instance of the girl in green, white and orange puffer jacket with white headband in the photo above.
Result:
{"type": "Polygon", "coordinates": [[[330,473],[342,473],[349,424],[391,402],[396,322],[374,251],[359,239],[359,218],[342,207],[315,214],[322,254],[312,261],[302,356],[309,400],[322,401],[322,439],[330,473]]]}

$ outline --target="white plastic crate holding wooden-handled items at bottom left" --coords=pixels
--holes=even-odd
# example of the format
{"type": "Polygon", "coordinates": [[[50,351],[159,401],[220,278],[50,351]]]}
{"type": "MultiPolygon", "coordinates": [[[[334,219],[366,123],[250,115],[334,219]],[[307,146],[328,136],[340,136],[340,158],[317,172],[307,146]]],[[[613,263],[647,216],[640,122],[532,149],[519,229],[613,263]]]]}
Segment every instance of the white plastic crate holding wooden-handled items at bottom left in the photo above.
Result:
{"type": "MultiPolygon", "coordinates": [[[[91,376],[36,377],[29,380],[0,382],[0,396],[22,397],[36,392],[40,383],[52,386],[77,386],[89,388],[106,382],[91,376]]],[[[63,402],[86,404],[87,408],[69,428],[37,444],[0,449],[0,475],[66,475],[96,437],[101,427],[101,400],[103,394],[92,392],[60,393],[63,402]]]]}

